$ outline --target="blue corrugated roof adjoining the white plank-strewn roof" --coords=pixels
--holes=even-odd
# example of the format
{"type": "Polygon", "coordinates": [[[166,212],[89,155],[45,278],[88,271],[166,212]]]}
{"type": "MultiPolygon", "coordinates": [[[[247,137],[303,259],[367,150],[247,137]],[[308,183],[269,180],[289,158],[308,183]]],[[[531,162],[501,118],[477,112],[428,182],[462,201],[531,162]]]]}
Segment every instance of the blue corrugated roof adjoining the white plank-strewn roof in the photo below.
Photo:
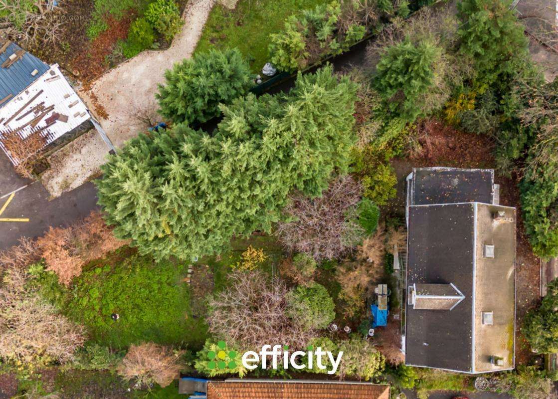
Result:
{"type": "MultiPolygon", "coordinates": [[[[2,43],[0,43],[0,46],[1,45],[2,43]]],[[[0,54],[0,65],[17,50],[21,50],[21,47],[14,43],[10,44],[6,51],[0,54]]],[[[21,59],[12,64],[9,68],[0,67],[0,100],[7,97],[9,94],[16,97],[25,90],[27,86],[39,79],[49,68],[49,65],[28,52],[23,54],[21,59]],[[32,76],[31,73],[35,69],[39,71],[39,73],[32,76]]],[[[0,108],[7,103],[8,101],[0,104],[0,108]]]]}

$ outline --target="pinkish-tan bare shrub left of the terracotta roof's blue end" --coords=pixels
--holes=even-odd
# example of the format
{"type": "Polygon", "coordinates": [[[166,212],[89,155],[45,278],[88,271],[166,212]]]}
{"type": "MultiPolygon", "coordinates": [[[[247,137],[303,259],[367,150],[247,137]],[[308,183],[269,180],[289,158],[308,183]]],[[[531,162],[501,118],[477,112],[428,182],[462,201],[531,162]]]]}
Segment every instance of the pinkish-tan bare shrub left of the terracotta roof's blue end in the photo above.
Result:
{"type": "Polygon", "coordinates": [[[131,345],[128,353],[118,365],[118,374],[134,379],[141,387],[156,382],[161,387],[168,386],[179,376],[182,362],[181,353],[154,343],[131,345]]]}

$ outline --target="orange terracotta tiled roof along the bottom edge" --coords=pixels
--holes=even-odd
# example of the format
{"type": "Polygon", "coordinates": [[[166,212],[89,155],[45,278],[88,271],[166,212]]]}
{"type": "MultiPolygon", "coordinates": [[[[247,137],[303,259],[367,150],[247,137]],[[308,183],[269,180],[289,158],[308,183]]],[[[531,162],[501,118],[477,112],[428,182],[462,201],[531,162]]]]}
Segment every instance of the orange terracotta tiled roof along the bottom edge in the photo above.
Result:
{"type": "Polygon", "coordinates": [[[207,399],[389,399],[389,386],[352,382],[210,381],[207,399]]]}

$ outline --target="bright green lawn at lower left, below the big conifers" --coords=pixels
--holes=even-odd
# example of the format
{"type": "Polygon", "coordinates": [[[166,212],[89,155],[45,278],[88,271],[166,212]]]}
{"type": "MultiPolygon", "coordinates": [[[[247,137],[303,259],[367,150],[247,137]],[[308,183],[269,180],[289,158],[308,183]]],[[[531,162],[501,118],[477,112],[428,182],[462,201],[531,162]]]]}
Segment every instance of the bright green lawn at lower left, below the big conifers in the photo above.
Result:
{"type": "Polygon", "coordinates": [[[187,266],[155,263],[124,248],[86,265],[70,289],[60,287],[50,274],[42,277],[41,285],[43,293],[101,345],[119,349],[150,341],[197,349],[207,326],[191,315],[190,287],[182,281],[187,266]],[[118,321],[110,318],[113,313],[119,314],[118,321]]]}

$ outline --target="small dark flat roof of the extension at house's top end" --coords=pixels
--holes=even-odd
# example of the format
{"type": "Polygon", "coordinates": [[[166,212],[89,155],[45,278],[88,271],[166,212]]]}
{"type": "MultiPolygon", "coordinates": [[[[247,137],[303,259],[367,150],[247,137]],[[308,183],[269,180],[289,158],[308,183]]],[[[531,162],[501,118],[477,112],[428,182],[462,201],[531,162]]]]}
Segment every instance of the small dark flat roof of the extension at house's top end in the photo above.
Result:
{"type": "Polygon", "coordinates": [[[411,205],[480,202],[492,204],[492,169],[413,169],[411,205]]]}

